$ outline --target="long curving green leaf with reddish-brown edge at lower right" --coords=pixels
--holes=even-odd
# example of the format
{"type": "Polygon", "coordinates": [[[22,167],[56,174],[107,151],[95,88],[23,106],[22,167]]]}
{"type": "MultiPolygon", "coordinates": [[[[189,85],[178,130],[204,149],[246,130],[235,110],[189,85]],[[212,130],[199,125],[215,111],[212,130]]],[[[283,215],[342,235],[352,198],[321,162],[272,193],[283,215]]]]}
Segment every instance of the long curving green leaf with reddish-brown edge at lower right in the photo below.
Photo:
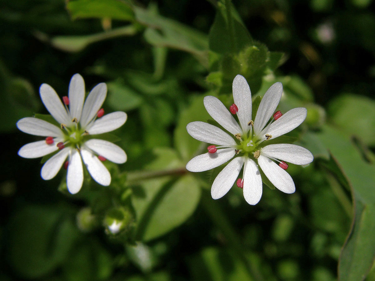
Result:
{"type": "Polygon", "coordinates": [[[352,229],[339,259],[339,280],[364,280],[375,258],[375,165],[367,163],[350,138],[339,130],[324,127],[317,136],[347,179],[354,202],[352,229]]]}

